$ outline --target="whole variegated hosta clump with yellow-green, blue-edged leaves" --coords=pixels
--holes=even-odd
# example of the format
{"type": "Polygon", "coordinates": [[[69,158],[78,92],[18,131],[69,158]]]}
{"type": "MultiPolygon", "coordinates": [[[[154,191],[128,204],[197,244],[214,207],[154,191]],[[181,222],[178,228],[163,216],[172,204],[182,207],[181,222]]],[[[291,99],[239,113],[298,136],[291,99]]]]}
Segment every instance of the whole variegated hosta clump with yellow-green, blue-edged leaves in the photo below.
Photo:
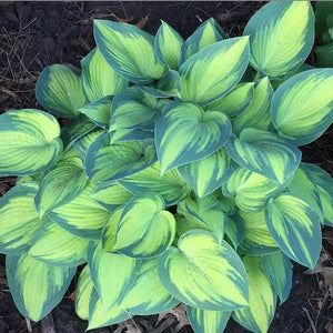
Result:
{"type": "Polygon", "coordinates": [[[185,303],[195,332],[232,316],[266,332],[292,260],[314,268],[333,224],[333,180],[297,147],[333,120],[333,69],[304,64],[309,2],[271,2],[228,38],[203,22],[185,41],[94,21],[81,72],[46,68],[50,113],[0,117],[0,250],[20,312],[62,299],[77,268],[89,329],[185,303]],[[274,87],[274,88],[273,88],[274,87]]]}

